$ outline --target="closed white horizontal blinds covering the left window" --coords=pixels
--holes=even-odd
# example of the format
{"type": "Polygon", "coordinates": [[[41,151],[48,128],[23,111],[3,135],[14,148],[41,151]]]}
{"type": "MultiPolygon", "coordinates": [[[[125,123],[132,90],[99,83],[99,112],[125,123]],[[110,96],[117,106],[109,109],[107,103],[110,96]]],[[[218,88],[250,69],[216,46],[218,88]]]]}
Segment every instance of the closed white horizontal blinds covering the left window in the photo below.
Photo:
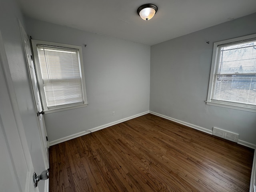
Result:
{"type": "Polygon", "coordinates": [[[78,50],[37,45],[37,51],[48,109],[82,104],[78,50]]]}

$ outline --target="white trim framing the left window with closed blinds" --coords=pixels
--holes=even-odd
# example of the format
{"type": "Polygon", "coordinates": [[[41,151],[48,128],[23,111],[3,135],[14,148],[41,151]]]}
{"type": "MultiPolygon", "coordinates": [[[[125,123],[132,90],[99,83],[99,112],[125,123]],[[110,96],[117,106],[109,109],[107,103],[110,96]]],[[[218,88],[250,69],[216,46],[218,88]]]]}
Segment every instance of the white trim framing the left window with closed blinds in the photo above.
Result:
{"type": "Polygon", "coordinates": [[[75,109],[75,108],[81,108],[81,107],[86,107],[88,105],[87,103],[87,98],[86,98],[86,88],[85,88],[85,79],[84,79],[84,66],[83,66],[83,58],[82,58],[82,46],[76,46],[76,45],[70,45],[70,44],[62,44],[62,43],[55,43],[55,42],[47,42],[47,41],[42,41],[42,40],[31,40],[32,43],[32,50],[34,54],[34,59],[35,59],[35,69],[36,69],[36,74],[37,76],[40,75],[40,69],[39,69],[39,60],[37,56],[37,44],[43,44],[43,45],[48,45],[48,46],[58,46],[58,47],[65,47],[65,48],[74,48],[78,50],[79,54],[79,60],[80,60],[80,72],[82,76],[82,92],[83,92],[83,104],[74,104],[73,106],[65,106],[65,107],[60,107],[60,108],[55,108],[55,109],[48,109],[46,106],[46,99],[44,97],[44,90],[42,89],[42,78],[37,78],[38,79],[38,84],[39,84],[39,92],[40,92],[40,98],[43,106],[43,110],[45,114],[48,113],[53,113],[53,112],[59,112],[59,111],[64,111],[64,110],[70,110],[70,109],[75,109]]]}

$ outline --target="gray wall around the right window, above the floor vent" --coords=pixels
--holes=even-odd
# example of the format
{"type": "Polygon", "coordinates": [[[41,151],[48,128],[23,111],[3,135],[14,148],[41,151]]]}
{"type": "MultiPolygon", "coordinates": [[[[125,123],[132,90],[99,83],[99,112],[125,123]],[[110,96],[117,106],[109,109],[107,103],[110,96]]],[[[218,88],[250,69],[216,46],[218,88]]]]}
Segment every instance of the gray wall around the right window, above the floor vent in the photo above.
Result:
{"type": "Polygon", "coordinates": [[[256,113],[205,103],[213,42],[254,33],[256,14],[151,46],[150,111],[256,144],[256,113]]]}

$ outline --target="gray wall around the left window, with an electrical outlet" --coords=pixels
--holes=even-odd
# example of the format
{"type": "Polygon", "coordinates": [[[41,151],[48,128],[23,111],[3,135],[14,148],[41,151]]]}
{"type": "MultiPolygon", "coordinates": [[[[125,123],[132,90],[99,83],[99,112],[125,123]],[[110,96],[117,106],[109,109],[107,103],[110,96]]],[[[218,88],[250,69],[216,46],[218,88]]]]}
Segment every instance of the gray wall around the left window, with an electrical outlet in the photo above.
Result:
{"type": "Polygon", "coordinates": [[[150,46],[31,18],[26,24],[33,39],[87,45],[82,56],[89,104],[45,114],[49,141],[149,110],[150,46]]]}

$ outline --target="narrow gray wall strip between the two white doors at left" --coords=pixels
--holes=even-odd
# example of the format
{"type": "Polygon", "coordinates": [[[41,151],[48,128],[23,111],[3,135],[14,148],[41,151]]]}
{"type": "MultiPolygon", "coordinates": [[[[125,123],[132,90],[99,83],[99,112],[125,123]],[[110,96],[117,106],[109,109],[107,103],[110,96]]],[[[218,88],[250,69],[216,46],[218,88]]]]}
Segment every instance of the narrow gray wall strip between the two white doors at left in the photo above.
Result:
{"type": "MultiPolygon", "coordinates": [[[[0,30],[4,41],[4,48],[8,58],[8,64],[34,170],[35,172],[40,173],[45,167],[41,144],[38,142],[40,140],[38,122],[31,95],[30,80],[23,54],[23,47],[20,40],[18,19],[24,26],[24,18],[16,1],[0,0],[0,30]]],[[[1,108],[0,110],[4,109],[1,108]]],[[[2,166],[2,162],[0,163],[2,166]]],[[[24,174],[26,177],[26,173],[24,174]]],[[[44,191],[44,182],[39,182],[38,187],[40,191],[44,191]]]]}

